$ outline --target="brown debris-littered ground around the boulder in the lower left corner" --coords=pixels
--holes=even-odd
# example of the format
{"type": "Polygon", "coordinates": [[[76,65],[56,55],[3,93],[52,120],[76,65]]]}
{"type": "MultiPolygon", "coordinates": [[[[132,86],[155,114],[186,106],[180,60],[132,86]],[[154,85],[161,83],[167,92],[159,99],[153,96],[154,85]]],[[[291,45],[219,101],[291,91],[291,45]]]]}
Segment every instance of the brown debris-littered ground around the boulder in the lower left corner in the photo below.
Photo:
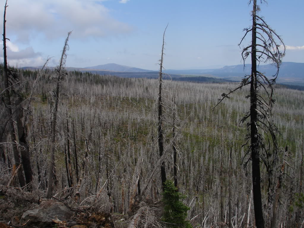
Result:
{"type": "MultiPolygon", "coordinates": [[[[67,200],[56,197],[48,200],[40,197],[41,193],[42,192],[39,191],[26,192],[22,188],[0,185],[0,228],[123,228],[129,227],[129,223],[132,222],[131,219],[134,217],[134,213],[132,212],[130,212],[130,215],[107,212],[107,209],[103,206],[100,206],[99,208],[86,205],[78,206],[77,203],[67,203],[67,200]],[[60,220],[58,218],[60,218],[62,214],[58,214],[52,219],[52,222],[42,222],[41,220],[43,219],[40,217],[47,217],[47,215],[44,214],[35,215],[32,219],[24,220],[24,218],[22,218],[22,215],[29,210],[35,211],[35,209],[43,208],[43,205],[46,204],[50,209],[51,204],[58,202],[67,206],[71,211],[71,217],[66,220],[60,220]]],[[[135,211],[138,208],[139,206],[135,207],[135,211]]],[[[45,213],[51,212],[46,211],[45,213]]]]}

